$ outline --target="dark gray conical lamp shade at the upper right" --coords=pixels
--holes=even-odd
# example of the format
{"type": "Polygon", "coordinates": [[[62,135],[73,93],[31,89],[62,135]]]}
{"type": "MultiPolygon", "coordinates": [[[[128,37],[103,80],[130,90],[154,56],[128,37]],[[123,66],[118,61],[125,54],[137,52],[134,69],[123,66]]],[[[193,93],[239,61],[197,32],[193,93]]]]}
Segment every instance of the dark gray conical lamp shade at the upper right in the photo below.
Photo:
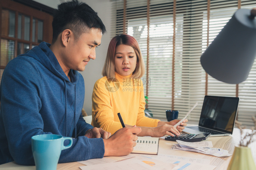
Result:
{"type": "Polygon", "coordinates": [[[246,80],[256,56],[254,17],[249,9],[237,10],[207,47],[201,65],[210,76],[229,84],[246,80]]]}

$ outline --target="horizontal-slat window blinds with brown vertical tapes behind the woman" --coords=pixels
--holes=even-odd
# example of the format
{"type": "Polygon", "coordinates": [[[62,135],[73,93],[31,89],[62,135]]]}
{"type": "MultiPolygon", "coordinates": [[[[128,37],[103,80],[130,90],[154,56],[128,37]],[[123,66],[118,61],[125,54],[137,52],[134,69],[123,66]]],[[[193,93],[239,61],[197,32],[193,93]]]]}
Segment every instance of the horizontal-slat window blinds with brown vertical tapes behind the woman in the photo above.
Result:
{"type": "Polygon", "coordinates": [[[252,125],[256,109],[256,63],[246,81],[226,84],[207,75],[200,56],[239,8],[252,0],[119,0],[113,2],[115,31],[140,44],[150,83],[147,108],[154,118],[179,110],[179,118],[198,102],[188,117],[198,121],[205,95],[240,97],[238,121],[252,125]],[[149,32],[148,32],[149,31],[149,32]]]}

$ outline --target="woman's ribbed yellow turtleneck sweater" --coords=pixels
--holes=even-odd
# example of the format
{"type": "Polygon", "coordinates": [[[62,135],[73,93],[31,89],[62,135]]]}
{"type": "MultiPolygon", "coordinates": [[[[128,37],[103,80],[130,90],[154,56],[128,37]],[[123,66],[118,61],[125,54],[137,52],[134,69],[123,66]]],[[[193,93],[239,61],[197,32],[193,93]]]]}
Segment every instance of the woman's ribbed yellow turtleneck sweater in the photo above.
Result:
{"type": "Polygon", "coordinates": [[[92,125],[111,134],[122,128],[117,113],[124,124],[156,127],[158,119],[145,116],[145,97],[140,78],[115,73],[116,82],[102,77],[96,81],[92,94],[92,125]]]}

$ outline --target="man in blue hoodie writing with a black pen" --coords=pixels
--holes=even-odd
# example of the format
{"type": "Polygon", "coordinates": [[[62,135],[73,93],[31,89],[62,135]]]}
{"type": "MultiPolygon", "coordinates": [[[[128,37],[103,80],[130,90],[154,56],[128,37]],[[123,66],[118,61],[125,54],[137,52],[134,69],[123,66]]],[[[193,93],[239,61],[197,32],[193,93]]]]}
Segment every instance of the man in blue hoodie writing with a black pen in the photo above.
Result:
{"type": "Polygon", "coordinates": [[[4,70],[0,164],[34,165],[31,137],[38,134],[73,137],[73,145],[62,151],[59,163],[129,154],[139,127],[123,128],[110,136],[87,124],[81,115],[85,85],[78,71],[95,59],[104,24],[87,4],[73,0],[58,6],[52,27],[52,44],[40,43],[11,60],[4,70]]]}

